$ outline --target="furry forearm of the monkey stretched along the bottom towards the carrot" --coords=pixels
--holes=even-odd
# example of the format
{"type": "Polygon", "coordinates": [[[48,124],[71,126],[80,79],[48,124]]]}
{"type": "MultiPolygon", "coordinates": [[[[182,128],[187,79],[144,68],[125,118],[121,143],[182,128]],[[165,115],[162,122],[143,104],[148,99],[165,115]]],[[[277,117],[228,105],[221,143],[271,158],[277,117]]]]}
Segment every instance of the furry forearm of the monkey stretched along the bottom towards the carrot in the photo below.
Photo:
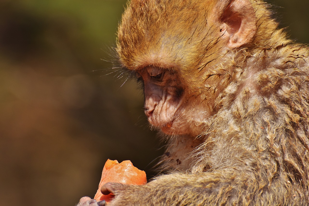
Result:
{"type": "Polygon", "coordinates": [[[213,173],[163,175],[142,186],[111,183],[108,189],[116,196],[110,205],[248,205],[261,196],[266,185],[254,174],[243,168],[226,168],[213,173]]]}

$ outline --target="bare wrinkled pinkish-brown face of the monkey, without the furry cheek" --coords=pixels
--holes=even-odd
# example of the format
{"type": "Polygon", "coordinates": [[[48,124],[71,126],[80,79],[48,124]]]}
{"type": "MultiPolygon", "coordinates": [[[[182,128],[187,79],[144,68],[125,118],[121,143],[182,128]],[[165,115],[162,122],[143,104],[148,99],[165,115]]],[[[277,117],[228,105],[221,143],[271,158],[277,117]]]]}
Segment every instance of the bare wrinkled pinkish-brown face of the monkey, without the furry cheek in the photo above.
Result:
{"type": "Polygon", "coordinates": [[[144,84],[145,114],[150,124],[169,134],[174,124],[178,124],[184,89],[177,84],[174,71],[149,66],[140,71],[144,84]]]}

